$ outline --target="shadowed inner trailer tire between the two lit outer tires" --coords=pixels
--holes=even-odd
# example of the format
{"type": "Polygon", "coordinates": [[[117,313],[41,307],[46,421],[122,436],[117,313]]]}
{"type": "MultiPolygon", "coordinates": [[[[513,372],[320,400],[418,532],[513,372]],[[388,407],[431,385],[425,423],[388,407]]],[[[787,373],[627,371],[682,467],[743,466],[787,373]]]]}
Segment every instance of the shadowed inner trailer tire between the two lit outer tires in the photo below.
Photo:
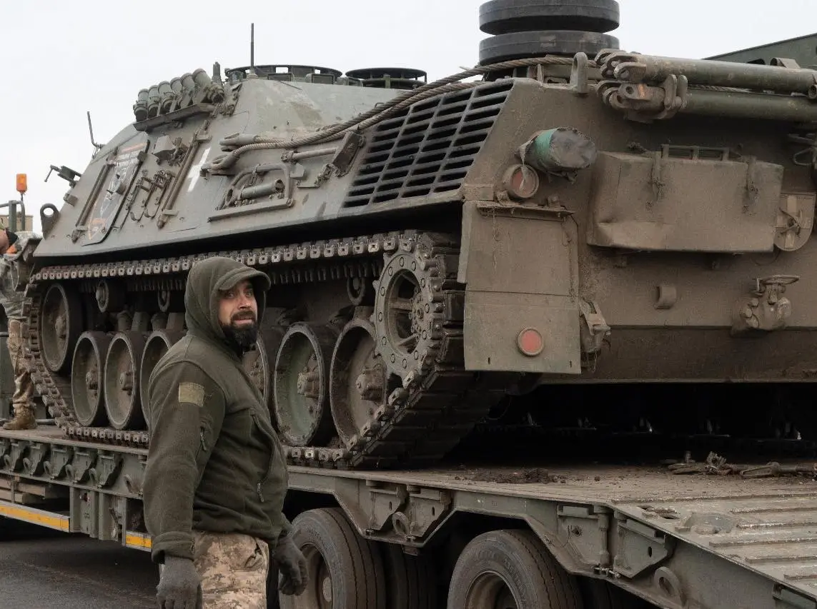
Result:
{"type": "MultiPolygon", "coordinates": [[[[382,543],[388,609],[437,609],[437,581],[430,553],[413,556],[397,544],[382,543]]],[[[427,552],[427,550],[426,550],[427,552]]]]}

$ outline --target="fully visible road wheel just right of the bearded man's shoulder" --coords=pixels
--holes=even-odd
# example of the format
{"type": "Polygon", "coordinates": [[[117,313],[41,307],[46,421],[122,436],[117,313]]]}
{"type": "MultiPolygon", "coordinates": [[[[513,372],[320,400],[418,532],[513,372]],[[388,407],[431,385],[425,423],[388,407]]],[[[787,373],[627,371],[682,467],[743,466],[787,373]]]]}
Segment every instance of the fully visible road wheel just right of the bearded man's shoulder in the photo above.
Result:
{"type": "Polygon", "coordinates": [[[273,373],[273,415],[290,446],[325,446],[334,426],[329,406],[329,368],[337,332],[292,324],[283,336],[273,373]]]}

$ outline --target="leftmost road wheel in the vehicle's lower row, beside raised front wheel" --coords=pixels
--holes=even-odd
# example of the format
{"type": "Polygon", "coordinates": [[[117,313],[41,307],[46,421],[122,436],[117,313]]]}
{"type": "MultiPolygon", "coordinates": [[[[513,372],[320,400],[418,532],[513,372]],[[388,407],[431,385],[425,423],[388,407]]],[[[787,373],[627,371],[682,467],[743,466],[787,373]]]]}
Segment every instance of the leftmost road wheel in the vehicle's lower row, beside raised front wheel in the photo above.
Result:
{"type": "Polygon", "coordinates": [[[71,399],[79,425],[107,425],[103,371],[111,337],[105,332],[83,332],[71,362],[71,399]]]}

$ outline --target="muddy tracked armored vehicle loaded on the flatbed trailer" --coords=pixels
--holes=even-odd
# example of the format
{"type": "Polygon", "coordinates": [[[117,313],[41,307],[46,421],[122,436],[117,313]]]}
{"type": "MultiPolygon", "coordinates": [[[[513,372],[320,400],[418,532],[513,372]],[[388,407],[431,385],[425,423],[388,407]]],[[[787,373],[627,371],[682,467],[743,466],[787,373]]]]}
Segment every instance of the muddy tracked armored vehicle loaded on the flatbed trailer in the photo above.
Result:
{"type": "Polygon", "coordinates": [[[292,463],[428,465],[486,420],[808,436],[817,90],[787,65],[146,91],[20,262],[38,393],[73,437],[145,446],[185,274],[221,255],[272,280],[247,366],[292,463]]]}

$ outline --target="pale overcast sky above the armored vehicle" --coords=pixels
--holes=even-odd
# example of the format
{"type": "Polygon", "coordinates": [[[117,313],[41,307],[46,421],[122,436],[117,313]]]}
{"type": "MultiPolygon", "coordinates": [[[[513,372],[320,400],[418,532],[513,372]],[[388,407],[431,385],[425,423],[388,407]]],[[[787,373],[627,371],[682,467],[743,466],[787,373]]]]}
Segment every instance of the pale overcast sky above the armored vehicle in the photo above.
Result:
{"type": "MultiPolygon", "coordinates": [[[[27,210],[61,207],[68,188],[50,165],[84,171],[87,129],[105,142],[133,120],[143,87],[196,68],[255,60],[346,72],[381,65],[424,69],[430,79],[473,66],[483,0],[139,0],[2,2],[0,202],[28,174],[27,210]],[[190,8],[186,8],[190,7],[190,8]]],[[[620,0],[620,47],[700,58],[817,32],[815,0],[620,0]]],[[[2,210],[0,213],[5,214],[2,210]]]]}

